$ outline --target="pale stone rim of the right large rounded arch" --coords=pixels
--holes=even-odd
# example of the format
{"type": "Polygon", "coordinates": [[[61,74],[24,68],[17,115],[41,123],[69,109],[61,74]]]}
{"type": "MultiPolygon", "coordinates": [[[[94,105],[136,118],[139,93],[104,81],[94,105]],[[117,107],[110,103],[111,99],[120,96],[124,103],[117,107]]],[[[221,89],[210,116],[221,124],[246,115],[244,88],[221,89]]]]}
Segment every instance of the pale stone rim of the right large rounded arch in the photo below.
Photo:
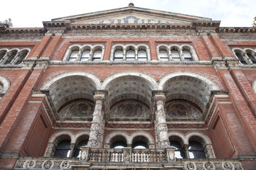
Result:
{"type": "Polygon", "coordinates": [[[211,90],[220,90],[220,88],[210,79],[207,77],[204,77],[201,74],[194,73],[194,72],[172,72],[170,74],[166,74],[164,77],[161,77],[159,81],[159,90],[164,90],[164,86],[166,85],[166,82],[174,77],[180,77],[180,76],[187,76],[187,77],[193,77],[196,79],[201,79],[201,81],[204,81],[208,86],[211,87],[211,90]]]}

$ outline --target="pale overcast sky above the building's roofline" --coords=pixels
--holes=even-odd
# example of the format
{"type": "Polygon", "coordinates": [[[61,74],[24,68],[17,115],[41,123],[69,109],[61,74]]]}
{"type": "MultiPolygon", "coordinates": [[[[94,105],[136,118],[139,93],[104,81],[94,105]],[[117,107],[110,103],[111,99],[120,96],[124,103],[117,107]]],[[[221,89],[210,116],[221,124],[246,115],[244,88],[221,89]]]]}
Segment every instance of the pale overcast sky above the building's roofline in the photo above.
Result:
{"type": "MultiPolygon", "coordinates": [[[[128,6],[130,0],[1,0],[0,21],[14,28],[43,27],[42,21],[128,6]]],[[[222,27],[251,27],[255,0],[132,0],[134,6],[221,21],[222,27]]]]}

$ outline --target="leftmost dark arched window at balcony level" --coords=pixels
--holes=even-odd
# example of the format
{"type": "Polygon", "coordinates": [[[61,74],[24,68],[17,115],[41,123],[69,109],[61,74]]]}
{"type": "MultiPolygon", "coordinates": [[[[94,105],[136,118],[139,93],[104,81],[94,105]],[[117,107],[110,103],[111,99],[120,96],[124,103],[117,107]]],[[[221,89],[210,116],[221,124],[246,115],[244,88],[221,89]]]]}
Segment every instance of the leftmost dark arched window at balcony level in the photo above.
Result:
{"type": "Polygon", "coordinates": [[[70,155],[70,140],[61,140],[58,142],[53,157],[69,157],[70,155]]]}

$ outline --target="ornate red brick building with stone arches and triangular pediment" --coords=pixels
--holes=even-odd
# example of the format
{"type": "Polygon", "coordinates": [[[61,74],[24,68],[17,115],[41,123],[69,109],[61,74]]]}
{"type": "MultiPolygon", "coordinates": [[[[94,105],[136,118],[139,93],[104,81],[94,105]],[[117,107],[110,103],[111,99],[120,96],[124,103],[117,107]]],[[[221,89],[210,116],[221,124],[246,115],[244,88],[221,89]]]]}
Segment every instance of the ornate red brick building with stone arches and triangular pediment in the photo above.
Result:
{"type": "Polygon", "coordinates": [[[0,23],[0,169],[256,167],[256,28],[124,8],[0,23]]]}

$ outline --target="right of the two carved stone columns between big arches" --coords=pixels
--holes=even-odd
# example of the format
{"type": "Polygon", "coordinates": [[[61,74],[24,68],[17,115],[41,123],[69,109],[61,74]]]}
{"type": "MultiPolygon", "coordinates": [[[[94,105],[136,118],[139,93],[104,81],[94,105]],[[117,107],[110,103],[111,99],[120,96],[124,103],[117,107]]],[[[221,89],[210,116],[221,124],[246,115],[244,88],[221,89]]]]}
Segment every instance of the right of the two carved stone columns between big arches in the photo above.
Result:
{"type": "Polygon", "coordinates": [[[166,113],[164,111],[164,103],[166,102],[165,93],[156,92],[154,94],[154,101],[156,103],[155,133],[157,139],[157,146],[161,149],[168,148],[170,147],[170,142],[166,125],[166,113]]]}

